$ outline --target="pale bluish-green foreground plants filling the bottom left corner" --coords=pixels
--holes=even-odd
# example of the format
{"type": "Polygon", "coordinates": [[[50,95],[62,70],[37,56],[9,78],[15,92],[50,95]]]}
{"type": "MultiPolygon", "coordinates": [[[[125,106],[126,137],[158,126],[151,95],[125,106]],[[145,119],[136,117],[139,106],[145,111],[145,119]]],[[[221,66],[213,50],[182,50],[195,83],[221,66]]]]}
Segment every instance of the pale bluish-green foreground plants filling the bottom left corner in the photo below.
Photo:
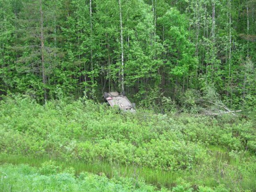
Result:
{"type": "MultiPolygon", "coordinates": [[[[60,170],[42,174],[40,169],[20,164],[0,166],[1,192],[154,192],[155,187],[134,179],[108,179],[83,172],[78,176],[60,170]]],[[[163,191],[166,191],[165,189],[163,191]]]]}

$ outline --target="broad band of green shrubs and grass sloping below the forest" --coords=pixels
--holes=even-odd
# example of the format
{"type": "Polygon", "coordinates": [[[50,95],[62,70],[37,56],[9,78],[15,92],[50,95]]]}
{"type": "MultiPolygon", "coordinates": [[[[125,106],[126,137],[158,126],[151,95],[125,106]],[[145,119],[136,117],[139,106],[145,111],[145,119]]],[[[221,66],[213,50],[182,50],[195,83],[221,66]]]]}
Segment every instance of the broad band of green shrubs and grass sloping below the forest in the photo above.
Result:
{"type": "MultiPolygon", "coordinates": [[[[91,101],[40,106],[16,98],[2,102],[0,125],[1,153],[14,154],[21,163],[24,156],[47,156],[46,161],[73,161],[76,172],[81,169],[76,165],[87,164],[82,171],[112,177],[114,169],[115,175],[170,188],[187,183],[195,189],[256,190],[250,121],[142,110],[119,114],[91,101]]],[[[9,155],[1,162],[12,162],[9,155]]]]}

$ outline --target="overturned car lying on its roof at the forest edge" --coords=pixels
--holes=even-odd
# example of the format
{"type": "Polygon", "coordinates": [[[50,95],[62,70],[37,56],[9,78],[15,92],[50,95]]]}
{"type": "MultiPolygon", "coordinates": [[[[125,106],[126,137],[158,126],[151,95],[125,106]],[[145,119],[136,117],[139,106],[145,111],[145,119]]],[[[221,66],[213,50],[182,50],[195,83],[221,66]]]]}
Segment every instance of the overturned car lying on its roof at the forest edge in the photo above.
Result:
{"type": "Polygon", "coordinates": [[[135,104],[131,103],[129,99],[125,96],[125,92],[104,92],[103,95],[104,100],[110,104],[110,106],[117,105],[119,109],[127,112],[136,112],[135,104]]]}

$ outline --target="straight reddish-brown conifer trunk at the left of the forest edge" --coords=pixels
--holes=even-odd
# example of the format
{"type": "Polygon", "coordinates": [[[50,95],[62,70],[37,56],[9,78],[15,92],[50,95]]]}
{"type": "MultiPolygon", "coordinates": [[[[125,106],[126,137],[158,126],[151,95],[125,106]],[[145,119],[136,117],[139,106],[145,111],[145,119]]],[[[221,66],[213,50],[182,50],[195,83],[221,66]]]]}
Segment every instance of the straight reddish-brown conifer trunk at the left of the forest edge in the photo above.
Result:
{"type": "Polygon", "coordinates": [[[43,11],[42,11],[42,0],[39,0],[40,3],[40,40],[41,40],[41,60],[42,60],[42,78],[44,84],[44,103],[47,101],[47,92],[46,92],[46,77],[45,77],[45,69],[44,69],[44,19],[43,19],[43,11]]]}

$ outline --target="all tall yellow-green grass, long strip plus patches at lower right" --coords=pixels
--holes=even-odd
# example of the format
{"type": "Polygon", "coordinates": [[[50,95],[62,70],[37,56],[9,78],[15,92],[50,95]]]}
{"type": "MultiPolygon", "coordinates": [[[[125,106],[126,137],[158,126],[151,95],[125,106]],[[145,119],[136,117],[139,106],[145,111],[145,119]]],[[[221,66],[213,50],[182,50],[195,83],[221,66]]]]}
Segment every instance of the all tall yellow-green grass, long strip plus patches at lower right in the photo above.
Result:
{"type": "MultiPolygon", "coordinates": [[[[212,155],[217,157],[216,168],[225,167],[225,163],[229,161],[232,166],[240,163],[239,158],[230,158],[227,153],[220,152],[215,149],[212,150],[212,155]]],[[[162,169],[152,169],[144,166],[136,165],[122,165],[119,163],[109,163],[105,161],[98,161],[95,163],[83,162],[80,160],[70,159],[64,160],[61,158],[52,158],[49,156],[17,156],[0,154],[0,164],[11,163],[14,165],[18,164],[29,164],[30,166],[41,167],[42,163],[47,161],[55,161],[57,166],[62,168],[73,167],[75,174],[79,175],[81,172],[90,172],[98,175],[106,175],[108,178],[113,177],[127,177],[136,180],[144,180],[148,184],[153,184],[159,189],[166,187],[172,189],[179,184],[188,183],[190,186],[207,186],[207,187],[218,187],[218,180],[225,183],[226,186],[232,188],[232,184],[236,182],[236,185],[240,185],[240,189],[256,189],[256,175],[250,175],[250,178],[238,183],[234,178],[235,172],[230,172],[223,176],[220,170],[219,174],[207,173],[208,170],[204,168],[198,168],[193,170],[180,170],[180,171],[164,171],[162,169]],[[233,176],[233,178],[231,178],[233,176]]],[[[225,168],[224,168],[225,169],[225,168]]],[[[223,170],[224,171],[224,170],[223,170]]],[[[230,171],[230,170],[225,170],[230,171]]]]}

